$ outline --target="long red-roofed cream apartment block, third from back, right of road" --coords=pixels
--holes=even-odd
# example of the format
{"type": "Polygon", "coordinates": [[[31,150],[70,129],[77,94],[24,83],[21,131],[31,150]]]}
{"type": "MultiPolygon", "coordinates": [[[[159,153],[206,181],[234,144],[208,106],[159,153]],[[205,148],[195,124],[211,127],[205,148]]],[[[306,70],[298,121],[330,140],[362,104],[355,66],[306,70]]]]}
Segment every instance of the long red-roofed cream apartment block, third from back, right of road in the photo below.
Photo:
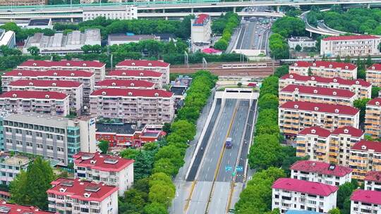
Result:
{"type": "Polygon", "coordinates": [[[356,94],[344,89],[289,84],[279,92],[279,105],[288,101],[339,104],[353,106],[356,94]]]}

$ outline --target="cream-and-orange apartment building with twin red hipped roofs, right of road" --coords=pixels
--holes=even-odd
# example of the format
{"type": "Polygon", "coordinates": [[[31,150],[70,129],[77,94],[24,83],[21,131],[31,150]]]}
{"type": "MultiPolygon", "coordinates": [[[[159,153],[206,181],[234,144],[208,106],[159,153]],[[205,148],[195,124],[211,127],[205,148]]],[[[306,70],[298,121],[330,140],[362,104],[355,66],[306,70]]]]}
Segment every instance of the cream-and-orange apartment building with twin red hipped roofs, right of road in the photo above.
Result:
{"type": "Polygon", "coordinates": [[[332,132],[319,126],[307,127],[296,136],[296,156],[349,166],[349,150],[363,138],[363,131],[350,126],[332,132]]]}

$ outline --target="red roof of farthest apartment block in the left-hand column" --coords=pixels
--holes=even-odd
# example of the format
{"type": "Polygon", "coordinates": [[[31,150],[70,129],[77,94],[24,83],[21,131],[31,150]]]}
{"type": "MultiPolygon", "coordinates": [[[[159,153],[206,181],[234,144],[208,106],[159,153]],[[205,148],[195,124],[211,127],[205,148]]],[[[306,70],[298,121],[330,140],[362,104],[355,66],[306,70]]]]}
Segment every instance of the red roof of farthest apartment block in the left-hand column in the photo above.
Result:
{"type": "Polygon", "coordinates": [[[80,61],[80,60],[62,60],[62,61],[35,61],[28,60],[18,67],[84,67],[84,68],[102,68],[105,63],[100,63],[99,61],[80,61]]]}

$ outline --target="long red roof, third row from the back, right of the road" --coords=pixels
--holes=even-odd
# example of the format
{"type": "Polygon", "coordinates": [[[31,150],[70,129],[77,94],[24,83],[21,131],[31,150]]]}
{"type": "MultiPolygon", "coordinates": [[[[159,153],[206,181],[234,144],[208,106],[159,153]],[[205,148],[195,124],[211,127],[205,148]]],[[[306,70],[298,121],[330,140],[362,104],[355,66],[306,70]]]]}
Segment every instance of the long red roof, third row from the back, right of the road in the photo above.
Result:
{"type": "Polygon", "coordinates": [[[318,94],[322,96],[340,96],[351,98],[356,95],[355,93],[344,89],[331,89],[296,84],[289,84],[288,86],[284,87],[281,92],[295,92],[296,90],[298,90],[299,94],[318,94]]]}

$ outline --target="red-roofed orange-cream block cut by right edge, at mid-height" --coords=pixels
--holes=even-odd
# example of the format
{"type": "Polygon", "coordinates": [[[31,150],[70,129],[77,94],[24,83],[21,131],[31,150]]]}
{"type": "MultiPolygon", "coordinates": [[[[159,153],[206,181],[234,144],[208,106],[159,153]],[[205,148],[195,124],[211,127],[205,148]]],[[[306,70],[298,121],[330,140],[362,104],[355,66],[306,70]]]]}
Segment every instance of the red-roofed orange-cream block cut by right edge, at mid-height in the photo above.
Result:
{"type": "Polygon", "coordinates": [[[371,137],[381,137],[381,98],[375,98],[366,103],[365,134],[371,137]]]}

